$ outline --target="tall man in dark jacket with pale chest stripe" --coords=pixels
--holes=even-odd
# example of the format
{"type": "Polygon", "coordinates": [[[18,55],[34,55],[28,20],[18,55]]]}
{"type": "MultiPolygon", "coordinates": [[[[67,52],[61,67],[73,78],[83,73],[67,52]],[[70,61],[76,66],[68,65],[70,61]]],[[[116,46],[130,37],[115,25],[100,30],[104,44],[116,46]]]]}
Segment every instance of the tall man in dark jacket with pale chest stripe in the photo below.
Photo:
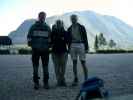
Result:
{"type": "Polygon", "coordinates": [[[48,62],[49,62],[49,36],[50,27],[45,23],[46,13],[40,12],[38,21],[33,24],[27,35],[28,45],[32,48],[33,82],[34,89],[39,89],[38,67],[39,59],[42,60],[44,88],[48,89],[48,62]]]}

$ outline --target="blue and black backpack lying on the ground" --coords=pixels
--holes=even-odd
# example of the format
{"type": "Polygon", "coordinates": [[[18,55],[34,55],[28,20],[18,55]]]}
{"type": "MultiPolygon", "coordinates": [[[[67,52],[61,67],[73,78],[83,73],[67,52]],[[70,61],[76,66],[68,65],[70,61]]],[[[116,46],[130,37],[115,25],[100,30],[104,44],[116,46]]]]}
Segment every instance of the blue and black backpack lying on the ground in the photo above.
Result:
{"type": "Polygon", "coordinates": [[[107,96],[108,92],[104,89],[104,81],[98,77],[93,77],[82,84],[76,100],[90,100],[93,98],[105,98],[107,96]]]}

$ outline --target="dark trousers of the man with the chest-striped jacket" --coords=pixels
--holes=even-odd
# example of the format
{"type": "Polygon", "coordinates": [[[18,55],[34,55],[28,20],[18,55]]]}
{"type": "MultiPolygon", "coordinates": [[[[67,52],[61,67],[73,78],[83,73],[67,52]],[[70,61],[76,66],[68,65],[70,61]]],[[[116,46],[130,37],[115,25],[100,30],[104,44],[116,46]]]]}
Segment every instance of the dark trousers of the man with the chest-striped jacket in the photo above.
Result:
{"type": "Polygon", "coordinates": [[[39,83],[38,68],[39,68],[40,58],[42,61],[43,82],[48,83],[48,79],[49,79],[49,71],[48,71],[49,52],[48,50],[32,49],[33,81],[35,83],[39,83]]]}

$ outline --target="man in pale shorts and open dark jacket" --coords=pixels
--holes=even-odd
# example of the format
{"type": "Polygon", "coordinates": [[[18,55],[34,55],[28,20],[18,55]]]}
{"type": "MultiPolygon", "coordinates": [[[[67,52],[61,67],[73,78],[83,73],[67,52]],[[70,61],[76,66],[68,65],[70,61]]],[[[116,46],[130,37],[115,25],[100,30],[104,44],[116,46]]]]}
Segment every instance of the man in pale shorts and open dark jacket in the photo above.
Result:
{"type": "Polygon", "coordinates": [[[74,81],[72,86],[76,86],[78,83],[77,76],[77,58],[79,57],[84,71],[84,79],[88,77],[88,70],[86,67],[85,53],[88,52],[88,40],[85,27],[77,22],[77,15],[71,16],[72,25],[68,28],[68,33],[70,35],[70,54],[73,60],[73,72],[74,81]]]}

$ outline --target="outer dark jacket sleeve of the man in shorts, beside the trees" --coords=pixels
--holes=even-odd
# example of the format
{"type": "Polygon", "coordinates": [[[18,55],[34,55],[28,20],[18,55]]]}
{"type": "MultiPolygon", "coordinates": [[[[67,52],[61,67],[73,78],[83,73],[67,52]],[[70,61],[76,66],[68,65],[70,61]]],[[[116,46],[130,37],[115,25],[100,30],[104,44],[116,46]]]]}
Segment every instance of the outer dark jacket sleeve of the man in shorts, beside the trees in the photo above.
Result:
{"type": "Polygon", "coordinates": [[[87,39],[87,32],[84,26],[81,26],[82,30],[82,35],[83,35],[83,42],[85,46],[85,50],[89,50],[89,45],[88,45],[88,39],[87,39]]]}

